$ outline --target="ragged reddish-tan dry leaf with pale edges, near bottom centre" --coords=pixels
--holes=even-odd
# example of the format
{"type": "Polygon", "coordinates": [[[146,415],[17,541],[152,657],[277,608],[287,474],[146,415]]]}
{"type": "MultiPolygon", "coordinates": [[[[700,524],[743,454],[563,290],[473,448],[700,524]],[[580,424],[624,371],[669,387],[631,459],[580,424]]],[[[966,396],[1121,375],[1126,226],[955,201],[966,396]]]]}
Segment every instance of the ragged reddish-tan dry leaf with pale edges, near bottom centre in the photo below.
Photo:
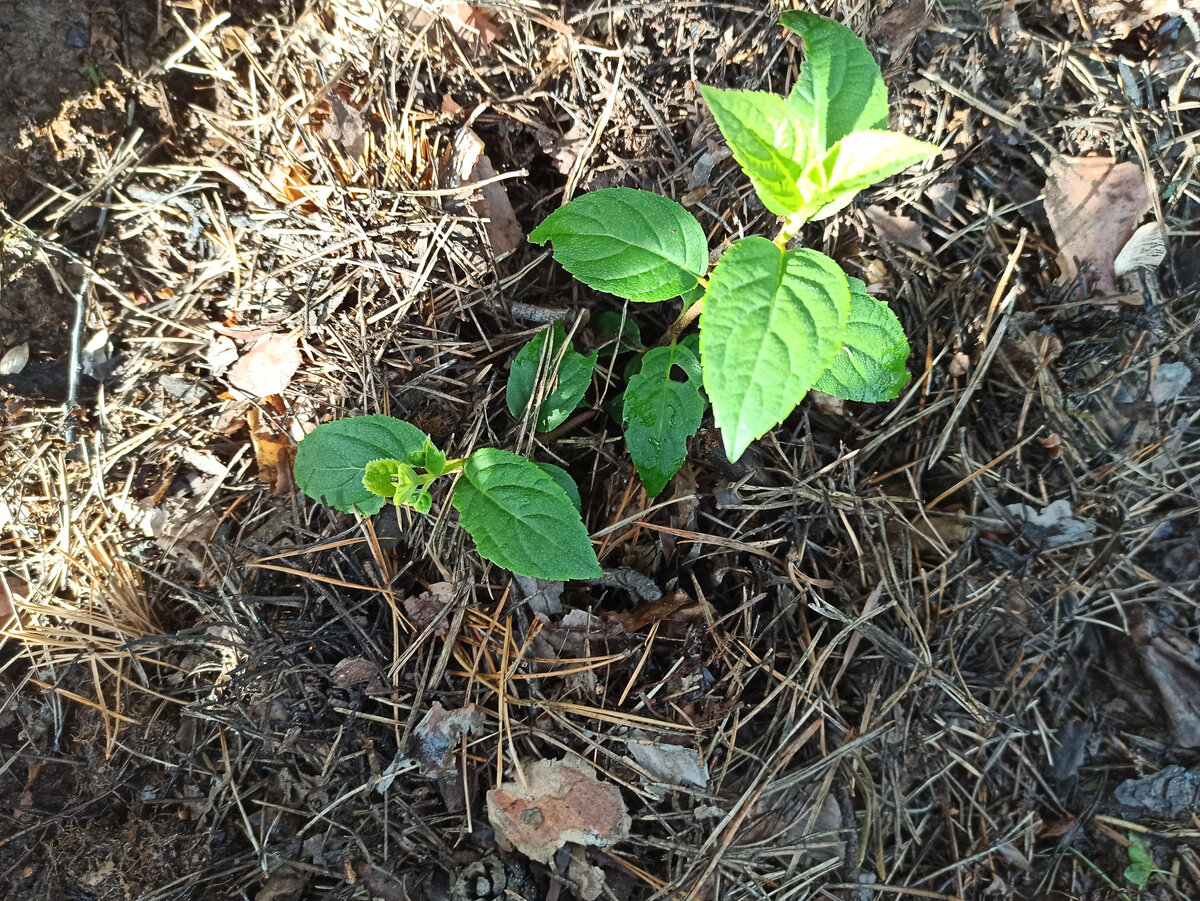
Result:
{"type": "Polygon", "coordinates": [[[620,791],[596,779],[577,757],[535,761],[524,785],[505,782],[487,793],[487,818],[502,847],[550,864],[568,842],[608,847],[629,837],[631,821],[620,791]]]}

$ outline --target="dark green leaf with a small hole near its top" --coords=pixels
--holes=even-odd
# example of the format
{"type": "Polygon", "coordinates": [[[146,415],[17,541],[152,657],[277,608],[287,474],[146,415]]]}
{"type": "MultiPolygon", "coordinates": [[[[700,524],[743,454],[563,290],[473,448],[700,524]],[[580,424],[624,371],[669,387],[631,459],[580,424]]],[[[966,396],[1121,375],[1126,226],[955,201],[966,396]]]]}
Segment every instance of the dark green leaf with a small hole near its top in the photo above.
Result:
{"type": "Polygon", "coordinates": [[[655,497],[688,458],[688,439],[700,428],[704,398],[700,360],[685,347],[656,347],[642,358],[642,371],[629,380],[622,418],[629,456],[648,497],[655,497]],[[686,379],[676,382],[678,366],[686,379]]]}

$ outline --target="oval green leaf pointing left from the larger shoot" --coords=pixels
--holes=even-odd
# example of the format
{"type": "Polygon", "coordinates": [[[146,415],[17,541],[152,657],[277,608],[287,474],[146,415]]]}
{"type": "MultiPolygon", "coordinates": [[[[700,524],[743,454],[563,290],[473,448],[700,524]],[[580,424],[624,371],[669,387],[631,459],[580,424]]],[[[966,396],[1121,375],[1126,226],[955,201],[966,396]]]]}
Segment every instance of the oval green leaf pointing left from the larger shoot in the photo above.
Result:
{"type": "Polygon", "coordinates": [[[550,214],[530,234],[589,288],[653,302],[694,288],[708,271],[708,240],[695,216],[649,191],[593,191],[550,214]]]}

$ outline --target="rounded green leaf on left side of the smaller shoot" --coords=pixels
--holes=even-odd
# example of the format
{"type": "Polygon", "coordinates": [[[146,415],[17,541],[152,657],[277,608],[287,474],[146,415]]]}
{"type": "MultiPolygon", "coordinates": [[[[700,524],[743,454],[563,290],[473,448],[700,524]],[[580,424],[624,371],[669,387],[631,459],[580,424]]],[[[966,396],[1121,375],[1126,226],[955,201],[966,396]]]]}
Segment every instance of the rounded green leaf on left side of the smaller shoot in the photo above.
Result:
{"type": "Polygon", "coordinates": [[[362,485],[367,463],[408,459],[425,442],[421,430],[391,416],[326,422],[300,439],[294,467],[296,485],[313,500],[324,500],[335,510],[378,513],[384,498],[362,485]]]}

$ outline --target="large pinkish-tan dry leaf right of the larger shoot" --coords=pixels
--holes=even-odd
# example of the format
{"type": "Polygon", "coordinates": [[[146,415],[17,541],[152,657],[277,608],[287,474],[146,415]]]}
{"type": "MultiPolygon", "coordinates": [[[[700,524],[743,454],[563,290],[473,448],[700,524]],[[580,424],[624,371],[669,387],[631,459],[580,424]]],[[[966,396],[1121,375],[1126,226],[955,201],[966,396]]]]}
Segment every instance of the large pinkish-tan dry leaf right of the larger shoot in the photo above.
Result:
{"type": "Polygon", "coordinates": [[[1063,276],[1074,278],[1082,265],[1099,293],[1115,293],[1117,253],[1151,205],[1141,169],[1106,156],[1062,156],[1046,176],[1046,217],[1063,276]]]}

